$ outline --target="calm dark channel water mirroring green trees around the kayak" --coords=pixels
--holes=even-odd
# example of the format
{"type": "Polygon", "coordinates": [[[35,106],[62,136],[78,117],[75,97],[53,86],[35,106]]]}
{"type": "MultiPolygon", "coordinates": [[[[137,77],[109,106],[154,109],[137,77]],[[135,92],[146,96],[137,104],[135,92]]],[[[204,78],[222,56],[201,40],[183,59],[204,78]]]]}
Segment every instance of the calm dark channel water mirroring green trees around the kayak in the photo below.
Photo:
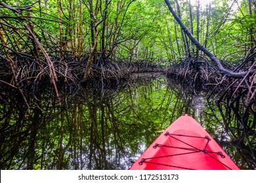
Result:
{"type": "Polygon", "coordinates": [[[256,168],[255,116],[161,75],[133,75],[114,89],[47,88],[0,94],[1,169],[129,169],[171,122],[190,114],[241,169],[256,168]]]}

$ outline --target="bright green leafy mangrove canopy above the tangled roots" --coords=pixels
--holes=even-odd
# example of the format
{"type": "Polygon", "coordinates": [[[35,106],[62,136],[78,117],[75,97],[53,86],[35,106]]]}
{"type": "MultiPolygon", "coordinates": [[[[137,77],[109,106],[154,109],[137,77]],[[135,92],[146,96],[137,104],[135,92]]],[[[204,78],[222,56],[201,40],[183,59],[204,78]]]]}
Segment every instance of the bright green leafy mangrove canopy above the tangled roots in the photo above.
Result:
{"type": "MultiPolygon", "coordinates": [[[[100,3],[98,5],[96,1],[92,1],[93,9],[91,10],[88,2],[60,0],[6,1],[5,3],[15,8],[32,5],[30,13],[34,17],[32,21],[37,37],[41,40],[48,39],[45,37],[47,33],[54,37],[54,41],[60,44],[60,48],[70,50],[74,55],[91,52],[92,41],[96,36],[91,23],[95,21],[96,24],[97,21],[103,20],[98,25],[97,52],[102,52],[102,46],[104,46],[105,54],[108,56],[112,54],[116,59],[130,58],[129,60],[135,61],[146,59],[159,63],[161,61],[171,63],[184,57],[184,38],[182,38],[181,29],[175,23],[164,1],[109,0],[106,1],[109,3],[106,10],[104,10],[105,1],[98,1],[100,3]],[[96,7],[98,8],[95,9],[96,7]],[[95,20],[92,13],[95,14],[93,15],[95,20]]],[[[192,22],[195,33],[196,5],[191,5],[192,20],[190,20],[188,1],[177,2],[182,21],[188,27],[192,22]]],[[[176,1],[171,3],[177,10],[176,1]]],[[[211,8],[209,5],[200,6],[200,42],[207,41],[207,48],[217,57],[225,59],[231,59],[233,54],[237,56],[240,50],[244,50],[242,47],[253,46],[256,16],[254,12],[247,14],[247,8],[248,5],[244,1],[238,1],[236,5],[226,0],[213,1],[211,8]],[[251,34],[251,37],[247,36],[248,34],[251,34]]],[[[18,16],[7,8],[0,8],[0,11],[3,16],[18,16]]],[[[28,14],[26,10],[22,13],[28,14]]],[[[4,20],[11,25],[22,27],[16,19],[4,20]]],[[[5,25],[3,28],[7,29],[5,25]]],[[[190,50],[193,49],[193,46],[189,45],[190,50]]]]}

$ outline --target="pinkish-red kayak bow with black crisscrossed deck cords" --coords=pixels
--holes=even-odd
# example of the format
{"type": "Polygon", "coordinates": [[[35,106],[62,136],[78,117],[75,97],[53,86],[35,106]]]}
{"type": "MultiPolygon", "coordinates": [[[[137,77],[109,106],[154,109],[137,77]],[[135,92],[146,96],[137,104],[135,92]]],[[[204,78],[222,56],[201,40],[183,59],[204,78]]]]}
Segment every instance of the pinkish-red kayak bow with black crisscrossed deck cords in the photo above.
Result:
{"type": "Polygon", "coordinates": [[[217,142],[185,114],[171,124],[131,166],[130,170],[238,170],[217,142]]]}

